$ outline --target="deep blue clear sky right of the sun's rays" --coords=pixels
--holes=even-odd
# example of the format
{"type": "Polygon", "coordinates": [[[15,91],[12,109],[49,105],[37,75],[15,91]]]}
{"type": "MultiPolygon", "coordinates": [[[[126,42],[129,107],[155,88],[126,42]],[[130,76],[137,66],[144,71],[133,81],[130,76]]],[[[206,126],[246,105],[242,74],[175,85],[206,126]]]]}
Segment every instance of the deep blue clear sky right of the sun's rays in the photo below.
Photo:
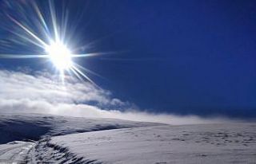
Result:
{"type": "Polygon", "coordinates": [[[106,77],[91,76],[114,96],[156,112],[256,116],[256,2],[61,2],[76,42],[116,52],[78,61],[106,77]]]}

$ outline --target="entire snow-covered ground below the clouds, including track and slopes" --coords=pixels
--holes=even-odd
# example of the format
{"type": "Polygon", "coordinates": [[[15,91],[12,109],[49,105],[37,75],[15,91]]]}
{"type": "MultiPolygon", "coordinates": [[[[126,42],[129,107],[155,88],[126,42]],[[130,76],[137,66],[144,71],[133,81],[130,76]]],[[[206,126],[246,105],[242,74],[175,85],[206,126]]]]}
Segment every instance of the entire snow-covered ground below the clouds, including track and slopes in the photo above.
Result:
{"type": "Polygon", "coordinates": [[[255,123],[0,115],[0,163],[256,163],[255,123]]]}

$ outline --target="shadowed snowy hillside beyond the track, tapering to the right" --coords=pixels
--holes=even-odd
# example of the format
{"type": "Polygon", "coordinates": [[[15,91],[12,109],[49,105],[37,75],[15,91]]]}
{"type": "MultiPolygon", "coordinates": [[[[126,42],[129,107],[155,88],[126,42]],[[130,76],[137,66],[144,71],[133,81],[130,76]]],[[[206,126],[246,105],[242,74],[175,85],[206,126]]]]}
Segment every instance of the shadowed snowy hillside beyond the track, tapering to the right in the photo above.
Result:
{"type": "Polygon", "coordinates": [[[0,144],[15,140],[38,140],[45,135],[67,135],[124,127],[144,127],[160,123],[141,123],[121,119],[89,119],[42,114],[0,114],[0,144]]]}

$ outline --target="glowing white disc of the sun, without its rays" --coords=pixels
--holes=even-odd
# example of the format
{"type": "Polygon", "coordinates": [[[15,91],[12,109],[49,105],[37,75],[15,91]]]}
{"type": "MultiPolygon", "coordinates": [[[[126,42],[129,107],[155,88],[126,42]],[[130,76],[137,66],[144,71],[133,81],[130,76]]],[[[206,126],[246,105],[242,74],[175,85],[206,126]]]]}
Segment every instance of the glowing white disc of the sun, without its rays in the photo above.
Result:
{"type": "Polygon", "coordinates": [[[45,50],[50,61],[60,72],[68,70],[73,66],[70,49],[63,45],[61,41],[52,41],[50,45],[46,46],[45,50]]]}

